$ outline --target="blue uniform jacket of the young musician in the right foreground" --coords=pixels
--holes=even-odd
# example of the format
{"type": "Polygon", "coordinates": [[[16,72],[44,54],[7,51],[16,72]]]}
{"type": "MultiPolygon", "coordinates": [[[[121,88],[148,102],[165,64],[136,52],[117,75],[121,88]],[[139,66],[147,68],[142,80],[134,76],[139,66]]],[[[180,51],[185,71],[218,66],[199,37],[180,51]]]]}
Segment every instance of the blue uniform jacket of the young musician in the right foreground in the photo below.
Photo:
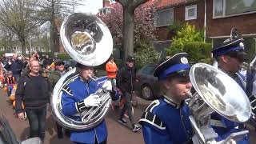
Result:
{"type": "Polygon", "coordinates": [[[139,121],[142,125],[146,144],[182,144],[190,142],[193,130],[190,125],[189,107],[186,104],[178,107],[165,98],[160,98],[152,102],[146,112],[155,115],[154,118],[150,119],[146,118],[148,116],[144,117],[144,114],[139,121]]]}

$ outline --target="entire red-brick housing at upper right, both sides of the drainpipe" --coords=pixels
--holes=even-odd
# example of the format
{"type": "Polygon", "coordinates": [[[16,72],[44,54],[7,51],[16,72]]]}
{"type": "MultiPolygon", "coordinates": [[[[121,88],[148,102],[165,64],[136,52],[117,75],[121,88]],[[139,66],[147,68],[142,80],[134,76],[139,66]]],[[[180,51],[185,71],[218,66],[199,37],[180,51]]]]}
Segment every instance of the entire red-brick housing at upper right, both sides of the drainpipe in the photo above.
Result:
{"type": "Polygon", "coordinates": [[[177,21],[204,30],[206,41],[214,46],[229,38],[235,26],[246,40],[246,50],[256,49],[256,0],[160,0],[155,14],[158,41],[170,41],[174,35],[168,26],[177,21]]]}

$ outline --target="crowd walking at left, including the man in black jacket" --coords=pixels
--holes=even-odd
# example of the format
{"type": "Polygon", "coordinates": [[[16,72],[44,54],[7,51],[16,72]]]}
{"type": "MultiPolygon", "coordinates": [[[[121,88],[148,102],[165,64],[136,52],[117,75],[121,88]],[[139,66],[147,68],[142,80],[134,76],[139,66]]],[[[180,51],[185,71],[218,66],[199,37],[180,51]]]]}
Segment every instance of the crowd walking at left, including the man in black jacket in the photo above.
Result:
{"type": "MultiPolygon", "coordinates": [[[[46,106],[50,102],[50,93],[67,70],[69,68],[64,67],[62,60],[51,59],[47,54],[42,58],[37,52],[30,58],[18,54],[11,57],[2,56],[2,87],[6,90],[7,101],[13,103],[17,117],[28,119],[30,138],[44,139],[46,106]]],[[[62,127],[58,123],[57,131],[58,138],[62,138],[62,127]]]]}

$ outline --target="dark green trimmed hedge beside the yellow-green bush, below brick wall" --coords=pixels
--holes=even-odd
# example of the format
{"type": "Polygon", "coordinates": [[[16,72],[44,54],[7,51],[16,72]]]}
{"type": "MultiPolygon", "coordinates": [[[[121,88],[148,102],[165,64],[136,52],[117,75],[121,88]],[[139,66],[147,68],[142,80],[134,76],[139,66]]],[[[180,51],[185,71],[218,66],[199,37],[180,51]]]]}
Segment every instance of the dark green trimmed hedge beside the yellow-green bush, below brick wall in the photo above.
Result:
{"type": "Polygon", "coordinates": [[[184,51],[189,54],[190,62],[211,62],[211,44],[205,42],[188,42],[184,45],[184,51]]]}

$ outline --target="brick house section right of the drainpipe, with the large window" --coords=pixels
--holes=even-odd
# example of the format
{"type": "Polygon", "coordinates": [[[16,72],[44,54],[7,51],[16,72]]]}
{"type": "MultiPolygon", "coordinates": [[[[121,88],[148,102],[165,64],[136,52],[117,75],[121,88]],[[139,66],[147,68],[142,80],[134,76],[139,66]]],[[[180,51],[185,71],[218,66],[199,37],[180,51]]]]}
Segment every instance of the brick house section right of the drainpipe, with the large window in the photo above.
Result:
{"type": "Polygon", "coordinates": [[[246,51],[254,56],[256,49],[256,0],[207,0],[206,38],[214,46],[230,37],[232,27],[245,39],[246,51]]]}

